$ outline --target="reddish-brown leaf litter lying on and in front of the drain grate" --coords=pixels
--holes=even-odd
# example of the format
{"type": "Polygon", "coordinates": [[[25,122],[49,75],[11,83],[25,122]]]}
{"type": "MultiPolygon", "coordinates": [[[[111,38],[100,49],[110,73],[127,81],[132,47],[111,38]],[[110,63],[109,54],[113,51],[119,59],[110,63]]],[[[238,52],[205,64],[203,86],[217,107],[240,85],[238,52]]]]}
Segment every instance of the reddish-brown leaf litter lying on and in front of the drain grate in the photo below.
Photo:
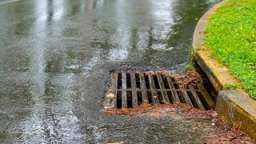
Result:
{"type": "MultiPolygon", "coordinates": [[[[202,82],[202,77],[196,71],[187,71],[186,74],[176,75],[174,82],[186,87],[189,85],[195,86],[196,82],[202,82]]],[[[198,118],[211,119],[215,126],[207,134],[202,136],[202,143],[251,143],[256,144],[256,141],[243,133],[241,130],[230,128],[219,118],[218,113],[214,110],[199,110],[183,103],[174,104],[150,104],[142,103],[134,108],[111,108],[103,109],[103,114],[114,115],[130,115],[143,116],[148,115],[153,118],[161,118],[164,114],[180,114],[183,118],[198,118]]]]}

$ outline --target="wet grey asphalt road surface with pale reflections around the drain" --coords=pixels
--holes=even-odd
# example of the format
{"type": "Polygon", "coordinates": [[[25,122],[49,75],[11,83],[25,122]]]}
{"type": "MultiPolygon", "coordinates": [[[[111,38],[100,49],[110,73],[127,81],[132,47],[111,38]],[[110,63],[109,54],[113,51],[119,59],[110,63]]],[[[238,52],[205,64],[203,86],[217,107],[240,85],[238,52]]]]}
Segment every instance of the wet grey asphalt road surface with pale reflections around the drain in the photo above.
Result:
{"type": "Polygon", "coordinates": [[[182,70],[218,1],[0,1],[0,142],[198,141],[209,122],[103,115],[98,100],[110,68],[182,70]]]}

